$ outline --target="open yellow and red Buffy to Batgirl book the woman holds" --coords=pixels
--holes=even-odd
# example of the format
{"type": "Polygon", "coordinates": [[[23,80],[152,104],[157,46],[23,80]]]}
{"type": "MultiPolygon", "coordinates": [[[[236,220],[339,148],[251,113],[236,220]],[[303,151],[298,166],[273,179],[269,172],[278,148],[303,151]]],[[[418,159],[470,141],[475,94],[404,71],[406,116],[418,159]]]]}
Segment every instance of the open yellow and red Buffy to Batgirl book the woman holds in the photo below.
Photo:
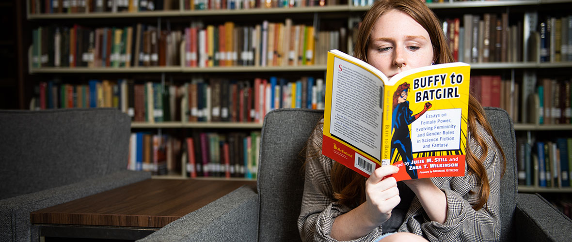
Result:
{"type": "Polygon", "coordinates": [[[470,65],[436,64],[388,78],[338,50],[328,53],[322,154],[370,176],[463,176],[470,65]],[[349,81],[351,80],[351,81],[349,81]],[[407,99],[407,96],[411,96],[407,99]]]}

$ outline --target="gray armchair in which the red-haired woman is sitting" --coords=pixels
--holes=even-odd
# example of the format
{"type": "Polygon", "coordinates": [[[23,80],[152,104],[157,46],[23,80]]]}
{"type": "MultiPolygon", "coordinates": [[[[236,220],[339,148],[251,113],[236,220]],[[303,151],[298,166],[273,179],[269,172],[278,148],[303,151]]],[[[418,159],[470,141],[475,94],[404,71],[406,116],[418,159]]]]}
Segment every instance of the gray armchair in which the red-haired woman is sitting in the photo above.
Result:
{"type": "MultiPolygon", "coordinates": [[[[539,195],[517,193],[514,127],[506,111],[485,108],[507,155],[501,188],[501,241],[569,241],[572,221],[539,195]]],[[[299,152],[322,111],[281,109],[264,119],[257,191],[239,188],[140,241],[300,241],[304,187],[299,152]]]]}

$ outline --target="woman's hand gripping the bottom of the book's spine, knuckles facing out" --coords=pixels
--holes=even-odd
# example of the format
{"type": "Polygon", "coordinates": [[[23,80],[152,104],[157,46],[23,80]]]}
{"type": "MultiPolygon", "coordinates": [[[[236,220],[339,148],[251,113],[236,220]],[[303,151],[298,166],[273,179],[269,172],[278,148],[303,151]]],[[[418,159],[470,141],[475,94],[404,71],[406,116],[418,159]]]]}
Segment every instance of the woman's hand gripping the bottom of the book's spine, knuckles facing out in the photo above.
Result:
{"type": "Polygon", "coordinates": [[[377,168],[366,181],[366,211],[371,223],[381,225],[391,217],[391,211],[399,204],[399,189],[395,178],[399,168],[383,166],[377,168]]]}

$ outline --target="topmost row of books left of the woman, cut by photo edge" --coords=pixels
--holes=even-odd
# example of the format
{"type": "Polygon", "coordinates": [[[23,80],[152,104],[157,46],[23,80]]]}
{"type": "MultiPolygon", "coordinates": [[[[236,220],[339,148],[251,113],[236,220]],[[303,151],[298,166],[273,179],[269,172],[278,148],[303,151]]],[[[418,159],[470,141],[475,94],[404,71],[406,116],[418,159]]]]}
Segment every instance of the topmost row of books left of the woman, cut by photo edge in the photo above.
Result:
{"type": "MultiPolygon", "coordinates": [[[[372,2],[371,0],[369,0],[372,2]]],[[[337,0],[30,0],[30,14],[137,13],[164,10],[268,9],[335,6],[337,0]]],[[[366,1],[363,1],[364,6],[366,1]]]]}

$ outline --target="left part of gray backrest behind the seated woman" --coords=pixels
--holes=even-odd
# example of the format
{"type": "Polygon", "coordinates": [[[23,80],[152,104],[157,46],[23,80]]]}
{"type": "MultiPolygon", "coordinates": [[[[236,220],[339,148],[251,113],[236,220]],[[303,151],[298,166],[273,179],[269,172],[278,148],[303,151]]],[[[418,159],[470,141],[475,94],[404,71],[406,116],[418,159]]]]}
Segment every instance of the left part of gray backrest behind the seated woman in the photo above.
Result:
{"type": "Polygon", "coordinates": [[[297,219],[304,190],[299,154],[322,110],[283,108],[264,118],[260,144],[258,241],[300,241],[297,219]]]}

